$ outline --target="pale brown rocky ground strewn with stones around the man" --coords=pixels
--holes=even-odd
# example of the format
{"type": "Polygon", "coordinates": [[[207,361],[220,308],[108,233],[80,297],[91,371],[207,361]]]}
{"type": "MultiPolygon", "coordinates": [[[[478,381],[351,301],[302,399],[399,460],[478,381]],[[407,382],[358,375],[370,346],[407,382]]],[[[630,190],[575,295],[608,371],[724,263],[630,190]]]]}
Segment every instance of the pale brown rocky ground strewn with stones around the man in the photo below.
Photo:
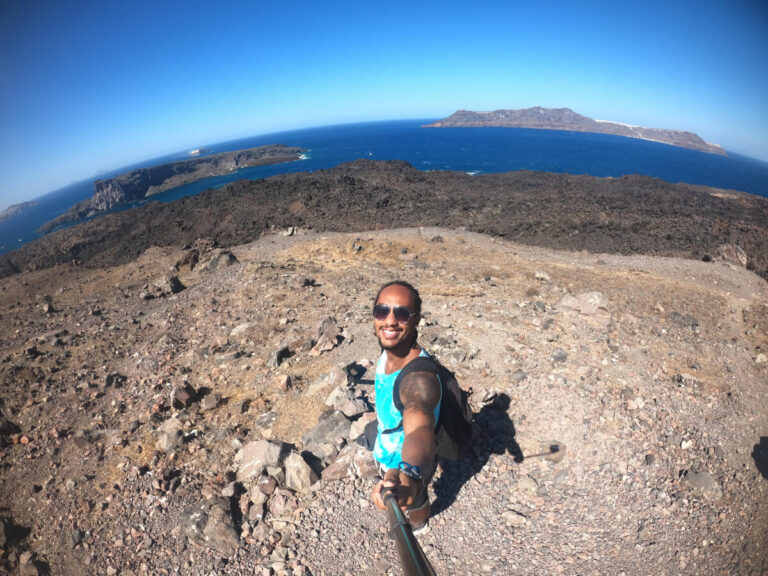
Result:
{"type": "Polygon", "coordinates": [[[436,228],[0,280],[0,570],[400,573],[366,450],[394,277],[477,413],[438,574],[768,573],[766,282],[436,228]]]}

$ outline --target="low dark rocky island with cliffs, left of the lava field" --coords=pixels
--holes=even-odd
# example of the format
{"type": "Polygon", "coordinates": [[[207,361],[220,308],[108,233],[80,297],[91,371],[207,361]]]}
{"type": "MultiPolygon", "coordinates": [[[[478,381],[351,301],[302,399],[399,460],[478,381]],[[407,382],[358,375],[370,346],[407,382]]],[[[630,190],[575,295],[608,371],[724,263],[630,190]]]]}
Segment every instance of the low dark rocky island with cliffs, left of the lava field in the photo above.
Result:
{"type": "MultiPolygon", "coordinates": [[[[204,150],[199,149],[197,152],[200,154],[204,150]]],[[[93,183],[93,196],[44,224],[39,232],[49,232],[60,224],[84,220],[99,212],[106,212],[203,178],[229,174],[250,166],[298,160],[302,152],[304,150],[295,146],[273,144],[139,168],[114,178],[96,180],[93,183]]]]}

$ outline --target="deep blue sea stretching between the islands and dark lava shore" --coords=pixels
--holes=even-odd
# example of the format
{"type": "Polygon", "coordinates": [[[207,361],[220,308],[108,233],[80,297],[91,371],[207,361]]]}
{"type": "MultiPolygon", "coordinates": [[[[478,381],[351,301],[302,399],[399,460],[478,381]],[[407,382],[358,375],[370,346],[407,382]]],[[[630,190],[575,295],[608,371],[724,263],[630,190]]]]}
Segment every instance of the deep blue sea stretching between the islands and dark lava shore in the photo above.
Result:
{"type": "MultiPolygon", "coordinates": [[[[727,157],[718,156],[607,134],[523,128],[421,128],[433,121],[324,126],[205,145],[211,154],[265,144],[300,146],[308,152],[305,159],[297,162],[246,168],[207,178],[154,196],[152,201],[170,202],[235,180],[311,172],[358,158],[406,160],[419,170],[471,174],[512,170],[613,177],[645,174],[670,182],[703,184],[768,197],[768,163],[730,152],[727,157]]],[[[100,178],[186,158],[190,158],[188,151],[124,166],[100,178]]],[[[92,194],[93,180],[72,184],[36,199],[35,204],[18,215],[0,222],[0,253],[38,238],[37,228],[92,194]]]]}

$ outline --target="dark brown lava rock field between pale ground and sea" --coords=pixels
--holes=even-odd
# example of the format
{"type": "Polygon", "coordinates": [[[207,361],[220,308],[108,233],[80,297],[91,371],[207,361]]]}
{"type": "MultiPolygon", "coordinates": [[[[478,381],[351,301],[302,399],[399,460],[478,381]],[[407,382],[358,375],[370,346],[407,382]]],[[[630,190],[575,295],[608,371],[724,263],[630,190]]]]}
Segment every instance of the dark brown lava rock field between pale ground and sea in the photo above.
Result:
{"type": "Polygon", "coordinates": [[[233,246],[276,226],[364,231],[465,227],[563,250],[700,260],[734,243],[768,278],[768,200],[644,176],[541,172],[469,176],[359,160],[330,170],[238,181],[172,203],[109,214],[0,256],[0,277],[76,262],[129,262],[150,246],[197,238],[233,246]]]}

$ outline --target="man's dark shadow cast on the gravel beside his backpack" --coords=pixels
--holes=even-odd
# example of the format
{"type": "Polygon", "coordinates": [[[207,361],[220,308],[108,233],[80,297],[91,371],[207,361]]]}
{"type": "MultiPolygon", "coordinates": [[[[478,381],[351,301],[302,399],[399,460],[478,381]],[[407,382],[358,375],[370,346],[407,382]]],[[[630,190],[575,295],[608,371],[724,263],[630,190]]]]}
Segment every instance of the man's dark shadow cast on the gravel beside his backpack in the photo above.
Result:
{"type": "Polygon", "coordinates": [[[491,454],[509,453],[515,462],[523,461],[523,452],[515,441],[515,425],[509,417],[510,398],[499,394],[493,402],[475,414],[472,443],[461,460],[441,460],[443,473],[434,483],[436,516],[456,501],[456,497],[475,474],[483,469],[491,454]]]}

